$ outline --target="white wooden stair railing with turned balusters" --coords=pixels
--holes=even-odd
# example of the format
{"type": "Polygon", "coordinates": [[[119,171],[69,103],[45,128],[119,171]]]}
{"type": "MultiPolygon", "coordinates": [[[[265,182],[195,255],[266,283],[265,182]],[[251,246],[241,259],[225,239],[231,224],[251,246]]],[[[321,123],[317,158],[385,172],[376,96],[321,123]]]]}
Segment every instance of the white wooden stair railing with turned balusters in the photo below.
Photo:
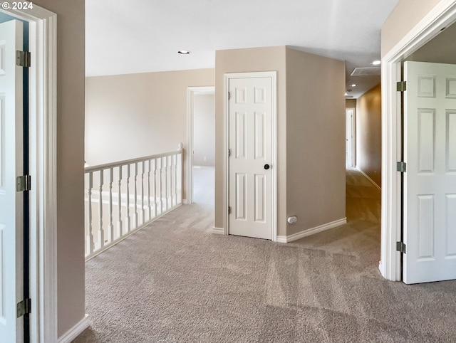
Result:
{"type": "Polygon", "coordinates": [[[182,144],[174,152],[86,167],[86,260],[182,204],[182,144]]]}

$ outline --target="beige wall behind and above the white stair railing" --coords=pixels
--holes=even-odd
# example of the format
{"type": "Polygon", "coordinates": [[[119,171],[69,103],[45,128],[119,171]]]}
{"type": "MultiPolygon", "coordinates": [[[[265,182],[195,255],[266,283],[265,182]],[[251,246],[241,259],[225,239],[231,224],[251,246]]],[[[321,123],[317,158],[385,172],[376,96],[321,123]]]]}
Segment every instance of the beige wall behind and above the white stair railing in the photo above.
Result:
{"type": "Polygon", "coordinates": [[[86,78],[86,162],[186,149],[187,87],[213,85],[214,69],[86,78]]]}

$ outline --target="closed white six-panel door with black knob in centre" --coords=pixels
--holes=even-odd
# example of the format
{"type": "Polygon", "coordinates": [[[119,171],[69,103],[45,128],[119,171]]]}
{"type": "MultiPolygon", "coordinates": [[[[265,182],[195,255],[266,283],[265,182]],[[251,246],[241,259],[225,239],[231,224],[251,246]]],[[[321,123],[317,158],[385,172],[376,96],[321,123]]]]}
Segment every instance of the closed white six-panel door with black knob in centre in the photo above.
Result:
{"type": "Polygon", "coordinates": [[[272,239],[272,82],[229,79],[231,235],[272,239]]]}

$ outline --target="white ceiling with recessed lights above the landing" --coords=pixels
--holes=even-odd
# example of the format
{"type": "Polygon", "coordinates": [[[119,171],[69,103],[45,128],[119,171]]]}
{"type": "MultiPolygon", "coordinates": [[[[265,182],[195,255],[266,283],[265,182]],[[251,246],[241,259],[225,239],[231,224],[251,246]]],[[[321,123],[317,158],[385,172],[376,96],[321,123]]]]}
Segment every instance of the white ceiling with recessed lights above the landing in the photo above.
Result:
{"type": "Polygon", "coordinates": [[[380,28],[397,3],[86,0],[86,75],[214,68],[217,50],[289,46],[345,60],[348,95],[356,98],[380,83],[380,75],[351,72],[380,59],[380,28]]]}

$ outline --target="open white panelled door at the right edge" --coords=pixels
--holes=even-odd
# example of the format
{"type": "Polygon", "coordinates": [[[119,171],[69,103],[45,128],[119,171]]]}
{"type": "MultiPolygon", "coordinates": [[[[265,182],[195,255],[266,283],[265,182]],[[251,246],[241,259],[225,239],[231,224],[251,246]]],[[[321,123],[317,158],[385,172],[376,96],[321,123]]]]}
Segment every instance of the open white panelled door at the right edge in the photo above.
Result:
{"type": "Polygon", "coordinates": [[[405,62],[405,283],[456,279],[456,65],[405,62]]]}

